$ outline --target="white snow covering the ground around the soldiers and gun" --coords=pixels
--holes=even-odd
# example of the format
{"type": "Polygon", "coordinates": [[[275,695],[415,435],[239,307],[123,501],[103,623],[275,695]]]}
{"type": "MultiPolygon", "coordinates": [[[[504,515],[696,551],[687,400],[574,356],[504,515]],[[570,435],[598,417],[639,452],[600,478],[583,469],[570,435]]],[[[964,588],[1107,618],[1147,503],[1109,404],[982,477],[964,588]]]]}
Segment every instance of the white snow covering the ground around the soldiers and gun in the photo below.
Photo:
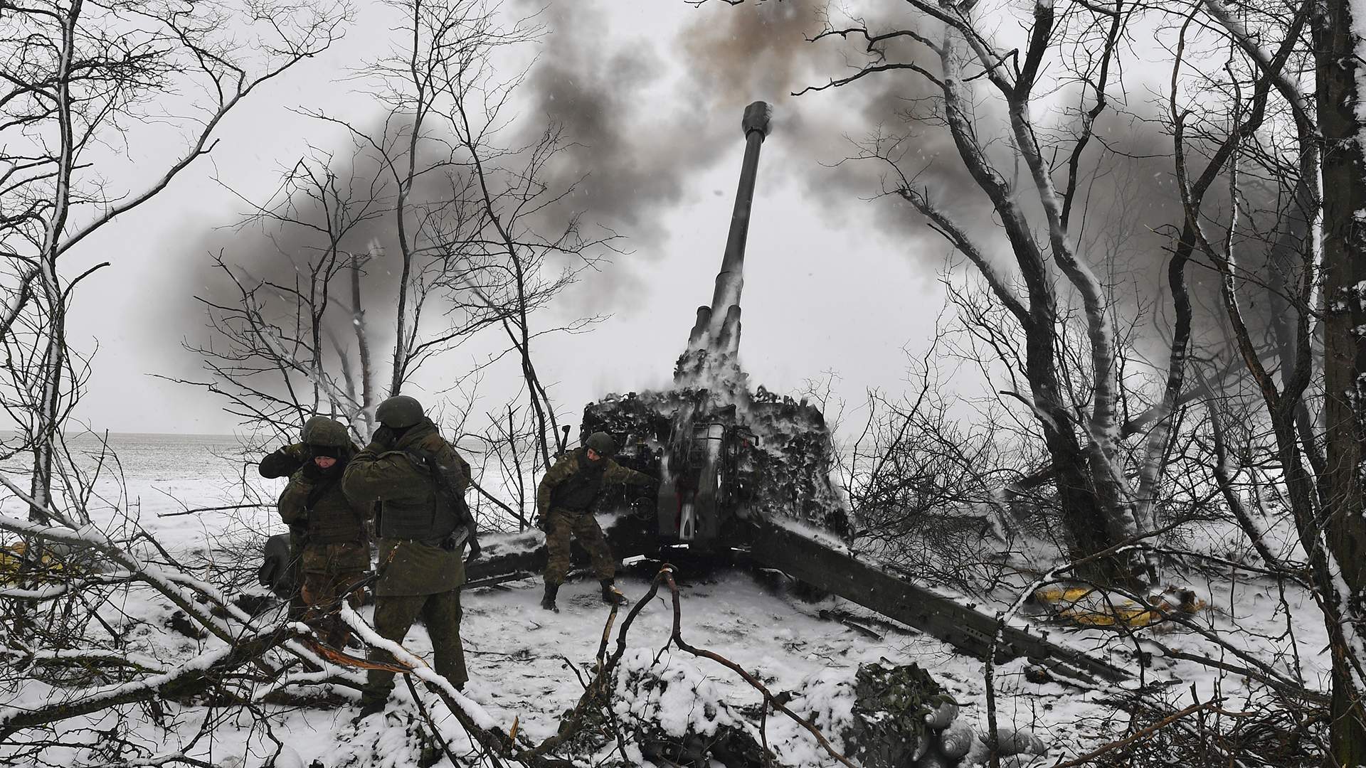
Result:
{"type": "MultiPolygon", "coordinates": [[[[212,456],[212,451],[221,447],[223,444],[209,441],[197,448],[175,443],[161,450],[149,450],[126,463],[126,493],[120,495],[112,486],[104,486],[101,492],[107,497],[127,499],[124,504],[141,511],[146,527],[178,559],[254,571],[255,563],[242,563],[242,555],[234,549],[234,543],[247,534],[264,536],[283,530],[283,525],[272,519],[270,510],[154,517],[157,512],[182,508],[172,496],[191,507],[240,500],[232,491],[235,467],[212,456]],[[219,471],[213,467],[219,467],[219,471]]],[[[130,455],[137,455],[137,451],[130,455]]],[[[253,482],[260,484],[257,491],[262,497],[273,497],[279,489],[279,481],[253,478],[253,482]]],[[[20,514],[22,508],[15,497],[0,502],[0,511],[11,517],[20,514]]],[[[97,512],[94,523],[107,532],[101,536],[117,538],[113,532],[120,526],[116,525],[113,506],[97,512]]],[[[781,521],[780,525],[821,536],[798,522],[781,521]]],[[[523,548],[538,536],[529,532],[490,537],[489,549],[523,548]]],[[[139,556],[141,564],[154,564],[152,560],[156,558],[149,553],[139,556]]],[[[197,573],[202,575],[202,571],[197,573]]],[[[641,564],[624,573],[619,584],[634,603],[645,593],[647,579],[653,575],[653,570],[641,564]]],[[[796,600],[781,588],[775,589],[772,579],[761,582],[743,570],[684,570],[678,578],[684,640],[734,660],[773,691],[799,693],[790,707],[799,715],[811,717],[828,735],[839,732],[840,724],[852,717],[851,681],[861,663],[919,664],[962,705],[959,722],[978,732],[986,730],[984,664],[958,655],[932,637],[895,623],[878,622],[872,612],[835,597],[814,603],[796,600]],[[861,619],[866,626],[878,627],[878,637],[874,640],[844,623],[824,619],[822,611],[840,611],[861,619]]],[[[168,573],[163,586],[173,589],[178,582],[183,584],[184,579],[168,573]]],[[[199,586],[217,589],[206,584],[199,586]]],[[[1305,590],[1287,585],[1281,593],[1273,582],[1251,578],[1242,571],[1212,573],[1205,584],[1188,586],[1208,594],[1212,605],[1190,616],[1188,629],[1162,625],[1141,633],[1139,644],[1154,657],[1153,667],[1145,671],[1147,681],[1168,681],[1172,690],[1186,696],[1191,687],[1202,698],[1224,696],[1233,708],[1243,701],[1253,701],[1254,691],[1242,678],[1164,656],[1164,648],[1169,648],[1232,660],[1202,637],[1202,633],[1218,633],[1231,638],[1251,657],[1265,660],[1268,674],[1290,681],[1303,679],[1311,689],[1328,689],[1329,659],[1322,653],[1326,631],[1305,590]]],[[[571,667],[583,679],[591,678],[608,618],[608,608],[601,604],[597,584],[591,578],[564,585],[560,592],[560,614],[548,614],[538,607],[540,590],[538,579],[526,579],[467,589],[462,594],[462,635],[471,679],[463,693],[449,687],[445,691],[481,726],[507,732],[516,722],[519,732],[531,742],[555,735],[561,715],[579,700],[582,687],[571,667]]],[[[947,593],[943,588],[938,592],[947,593]]],[[[228,596],[231,594],[225,594],[228,596]]],[[[1007,608],[1009,597],[989,601],[978,609],[996,614],[1007,608]]],[[[130,584],[120,588],[119,599],[104,604],[100,614],[124,637],[124,657],[152,670],[153,675],[173,674],[191,666],[204,668],[220,657],[227,646],[217,637],[190,640],[168,631],[167,622],[172,609],[153,586],[130,584]]],[[[369,622],[372,611],[366,605],[357,615],[369,622]]],[[[249,622],[243,616],[220,620],[236,629],[249,622]]],[[[279,612],[268,612],[251,622],[251,626],[261,627],[281,620],[279,612]]],[[[622,616],[613,627],[609,649],[615,646],[620,623],[622,616]]],[[[1037,623],[1037,619],[1015,616],[1012,623],[1024,626],[1037,623]]],[[[671,625],[668,593],[661,590],[631,626],[622,664],[623,671],[653,666],[657,674],[676,685],[671,683],[665,694],[657,698],[627,697],[619,687],[616,707],[623,713],[654,713],[669,732],[684,728],[709,732],[709,728],[734,724],[740,712],[754,712],[761,701],[759,694],[728,670],[676,648],[660,653],[668,645],[671,625]]],[[[1049,638],[1108,657],[1131,670],[1138,668],[1131,650],[1126,650],[1123,644],[1116,644],[1115,637],[1102,630],[1063,631],[1053,627],[1049,638]]],[[[430,659],[432,645],[421,625],[408,633],[403,649],[415,659],[430,659]]],[[[37,670],[49,659],[60,656],[61,653],[40,652],[23,657],[11,653],[5,663],[12,660],[37,670]]],[[[996,667],[999,723],[1008,730],[1027,728],[1042,738],[1050,748],[1049,761],[1075,757],[1123,732],[1127,719],[1115,707],[1115,700],[1123,696],[1120,689],[1079,690],[1060,682],[1030,682],[1024,678],[1024,660],[996,667]]],[[[290,670],[254,693],[254,708],[270,716],[273,734],[287,743],[287,750],[277,748],[253,716],[240,708],[224,711],[168,702],[163,717],[153,717],[131,705],[120,707],[119,712],[133,724],[126,738],[145,745],[148,756],[186,749],[197,758],[212,758],[219,765],[234,764],[242,768],[310,765],[314,760],[321,760],[326,768],[415,765],[422,752],[417,723],[425,720],[417,708],[418,702],[402,681],[392,696],[389,713],[369,717],[358,727],[351,724],[357,713],[354,705],[314,709],[266,702],[266,694],[277,690],[331,690],[342,694],[346,701],[354,701],[354,690],[322,685],[324,679],[337,674],[335,667],[321,674],[290,670]],[[205,724],[209,732],[198,737],[198,730],[205,724]]],[[[418,674],[425,679],[443,682],[425,664],[419,666],[418,674]]],[[[358,672],[350,672],[348,676],[359,679],[358,672]]],[[[143,678],[148,679],[156,678],[143,678]]],[[[119,685],[124,683],[94,685],[85,696],[109,696],[119,685]]],[[[19,689],[0,691],[0,719],[68,696],[70,691],[59,687],[51,678],[30,672],[19,689]]],[[[421,696],[421,704],[458,756],[471,752],[470,739],[444,704],[428,691],[421,696]]],[[[744,727],[757,737],[757,717],[744,716],[744,720],[749,723],[744,727]]],[[[94,737],[81,728],[108,728],[112,722],[109,712],[78,717],[63,726],[63,735],[71,745],[89,743],[94,737]]],[[[769,746],[788,765],[832,765],[811,735],[781,715],[769,713],[765,735],[769,746]]],[[[837,738],[833,738],[833,743],[836,749],[843,748],[837,738]]],[[[979,757],[981,743],[973,742],[971,746],[970,757],[979,757]]],[[[5,758],[5,749],[8,748],[0,748],[0,761],[5,758]]],[[[60,749],[66,752],[53,748],[48,756],[53,763],[83,765],[94,761],[83,748],[60,749]]],[[[639,764],[646,764],[634,746],[628,746],[626,752],[637,757],[639,764]]]]}

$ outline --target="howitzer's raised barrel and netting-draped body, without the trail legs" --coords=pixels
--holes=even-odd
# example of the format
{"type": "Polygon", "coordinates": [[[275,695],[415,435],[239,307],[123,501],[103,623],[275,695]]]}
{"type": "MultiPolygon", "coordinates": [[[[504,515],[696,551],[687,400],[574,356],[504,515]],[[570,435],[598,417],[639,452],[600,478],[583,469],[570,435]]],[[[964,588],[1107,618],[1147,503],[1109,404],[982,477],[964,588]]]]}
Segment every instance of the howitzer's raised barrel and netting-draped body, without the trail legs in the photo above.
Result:
{"type": "MultiPolygon", "coordinates": [[[[829,481],[835,451],[821,411],[749,388],[739,365],[740,295],[759,150],[770,108],[744,109],[744,160],[712,303],[699,306],[665,392],[608,396],[583,410],[583,433],[608,432],[627,445],[617,461],[661,478],[653,511],[660,545],[698,551],[742,544],[744,525],[787,517],[847,534],[847,514],[829,481]]],[[[632,500],[604,499],[602,510],[632,500]]],[[[634,500],[641,511],[642,500],[634,500]]]]}

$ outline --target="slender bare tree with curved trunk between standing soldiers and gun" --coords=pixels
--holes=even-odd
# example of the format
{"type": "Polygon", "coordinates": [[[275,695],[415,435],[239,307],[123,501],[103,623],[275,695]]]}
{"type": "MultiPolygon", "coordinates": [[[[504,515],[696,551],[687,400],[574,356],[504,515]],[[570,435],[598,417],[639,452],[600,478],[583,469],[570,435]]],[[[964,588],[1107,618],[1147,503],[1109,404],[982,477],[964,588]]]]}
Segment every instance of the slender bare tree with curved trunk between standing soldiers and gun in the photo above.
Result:
{"type": "MultiPolygon", "coordinates": [[[[563,445],[556,443],[559,422],[531,344],[553,329],[535,328],[531,314],[591,266],[616,235],[586,235],[576,216],[559,215],[574,193],[572,184],[552,189],[544,180],[546,165],[568,141],[559,126],[546,126],[522,145],[504,138],[508,105],[523,75],[500,77],[494,56],[535,41],[544,30],[531,19],[499,25],[486,0],[399,0],[393,5],[411,27],[414,51],[381,61],[373,74],[411,89],[417,94],[411,108],[429,115],[433,130],[451,138],[452,152],[467,168],[473,194],[463,202],[478,213],[470,236],[445,241],[445,257],[470,266],[452,284],[497,318],[516,354],[541,466],[549,467],[563,445]]],[[[561,329],[575,332],[586,324],[561,329]]]]}

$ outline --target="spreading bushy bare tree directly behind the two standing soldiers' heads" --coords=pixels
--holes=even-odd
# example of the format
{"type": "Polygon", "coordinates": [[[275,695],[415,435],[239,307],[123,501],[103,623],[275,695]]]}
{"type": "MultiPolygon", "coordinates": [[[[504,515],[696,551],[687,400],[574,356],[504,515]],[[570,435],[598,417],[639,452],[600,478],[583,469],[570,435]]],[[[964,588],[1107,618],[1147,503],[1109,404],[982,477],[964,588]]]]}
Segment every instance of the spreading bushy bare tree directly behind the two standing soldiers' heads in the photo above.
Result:
{"type": "MultiPolygon", "coordinates": [[[[358,145],[346,175],[331,154],[302,159],[275,198],[251,205],[238,231],[260,230],[281,251],[268,262],[268,273],[234,262],[229,253],[216,257],[231,294],[201,297],[210,338],[191,350],[212,380],[195,384],[227,398],[229,413],[245,424],[283,435],[310,414],[329,413],[365,441],[381,399],[384,372],[373,354],[378,343],[392,339],[388,357],[399,361],[402,387],[481,327],[478,318],[437,314],[448,323],[419,332],[423,310],[436,312],[432,299],[451,277],[440,254],[410,253],[398,283],[388,277],[389,257],[376,232],[393,216],[395,187],[388,160],[373,150],[398,142],[389,137],[358,145]],[[404,323],[391,327],[389,336],[389,328],[369,318],[366,306],[400,299],[404,323]]],[[[458,206],[432,205],[421,231],[438,219],[459,230],[462,216],[458,206]]]]}

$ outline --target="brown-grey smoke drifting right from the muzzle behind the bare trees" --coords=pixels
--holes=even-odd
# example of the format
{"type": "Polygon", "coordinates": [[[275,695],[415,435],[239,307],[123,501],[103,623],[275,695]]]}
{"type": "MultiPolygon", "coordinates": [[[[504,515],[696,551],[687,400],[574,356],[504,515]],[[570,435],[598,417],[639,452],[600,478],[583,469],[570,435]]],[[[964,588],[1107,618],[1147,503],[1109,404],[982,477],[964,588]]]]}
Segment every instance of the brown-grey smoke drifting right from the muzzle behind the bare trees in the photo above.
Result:
{"type": "MultiPolygon", "coordinates": [[[[889,241],[906,243],[900,246],[906,256],[921,260],[926,269],[943,265],[943,256],[949,247],[940,235],[910,205],[895,195],[881,197],[897,180],[889,174],[891,168],[878,160],[841,163],[866,153],[880,139],[882,146],[896,139],[895,152],[902,172],[914,176],[917,186],[928,190],[941,210],[959,221],[989,257],[1009,269],[1014,256],[986,195],[967,172],[941,122],[938,90],[933,83],[914,71],[893,70],[848,86],[790,97],[790,92],[848,77],[858,66],[870,63],[858,36],[806,41],[826,25],[824,7],[817,3],[749,3],[734,8],[714,4],[710,11],[705,16],[699,14],[698,22],[680,36],[690,87],[712,94],[713,104],[727,97],[743,101],[750,93],[775,101],[779,127],[776,141],[769,145],[772,152],[787,159],[776,164],[779,172],[799,184],[809,198],[820,201],[832,225],[840,225],[859,208],[872,210],[876,225],[889,241]],[[878,197],[881,200],[869,200],[878,197]]],[[[938,34],[928,19],[892,5],[876,14],[856,20],[832,18],[828,23],[866,26],[873,33],[915,29],[932,38],[938,34]]],[[[933,52],[910,40],[892,41],[884,51],[887,61],[912,63],[930,72],[940,68],[933,52]]],[[[1142,89],[1134,81],[1127,86],[1130,92],[1142,89]]],[[[986,90],[988,94],[975,100],[974,105],[982,131],[979,139],[1003,174],[1018,174],[1018,200],[1040,227],[1037,238],[1046,251],[1037,195],[1027,174],[1009,154],[1008,142],[1000,141],[1008,138],[1004,104],[997,94],[989,93],[989,87],[986,90]]],[[[1154,90],[1161,92],[1161,87],[1154,90]]],[[[1041,118],[1059,123],[1057,128],[1041,124],[1044,135],[1052,130],[1061,130],[1064,135],[1078,130],[1081,116],[1076,111],[1089,107],[1090,101],[1083,101],[1082,93],[1070,87],[1061,92],[1061,104],[1068,111],[1061,118],[1040,109],[1041,118]]],[[[713,113],[727,112],[717,109],[713,113]]],[[[1141,329],[1141,336],[1152,335],[1154,327],[1164,329],[1157,336],[1167,336],[1172,318],[1165,268],[1184,219],[1176,189],[1172,139],[1150,104],[1113,97],[1111,109],[1096,124],[1096,134],[1079,165],[1072,236],[1083,258],[1111,286],[1112,299],[1121,313],[1145,317],[1146,328],[1141,329]]],[[[1188,138],[1188,149],[1208,152],[1195,138],[1188,138]]],[[[1064,176],[1060,172],[1057,178],[1064,176]]],[[[1246,208],[1242,228],[1251,231],[1258,220],[1281,223],[1259,238],[1250,234],[1240,236],[1240,242],[1242,238],[1255,239],[1243,247],[1247,258],[1243,266],[1253,273],[1254,282],[1274,283],[1268,275],[1270,250],[1266,243],[1284,228],[1284,221],[1294,219],[1285,216],[1285,204],[1279,201],[1284,194],[1285,190],[1255,186],[1240,193],[1246,208]]],[[[1216,221],[1227,219],[1225,197],[1217,193],[1209,197],[1206,210],[1216,221]]],[[[1220,347],[1223,340],[1217,338],[1217,320],[1213,317],[1213,313],[1221,312],[1218,282],[1205,260],[1190,264],[1187,277],[1197,306],[1197,328],[1206,329],[1205,340],[1220,347]]],[[[1294,280],[1292,273],[1288,282],[1294,280]]],[[[1244,312],[1258,329],[1268,328],[1279,314],[1277,307],[1285,306],[1284,301],[1253,286],[1249,286],[1247,294],[1244,312]]]]}

